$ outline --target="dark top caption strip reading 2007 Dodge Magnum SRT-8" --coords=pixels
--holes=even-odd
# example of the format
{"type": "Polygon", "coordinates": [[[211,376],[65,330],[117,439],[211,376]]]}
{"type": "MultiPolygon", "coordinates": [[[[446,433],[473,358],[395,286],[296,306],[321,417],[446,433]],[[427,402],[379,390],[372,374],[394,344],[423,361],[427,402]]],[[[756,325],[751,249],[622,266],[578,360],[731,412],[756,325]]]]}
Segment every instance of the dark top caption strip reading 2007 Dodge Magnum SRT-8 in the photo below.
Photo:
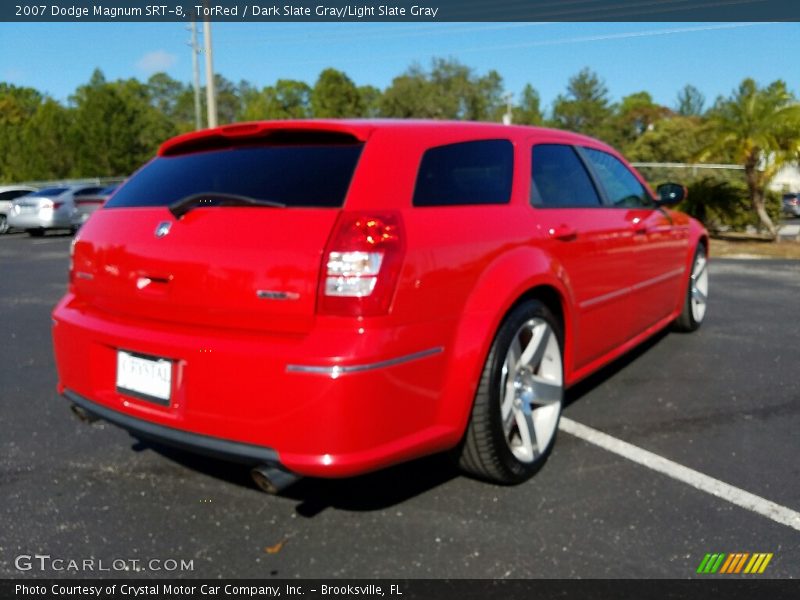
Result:
{"type": "Polygon", "coordinates": [[[0,21],[798,21],[797,0],[4,0],[0,21]]]}

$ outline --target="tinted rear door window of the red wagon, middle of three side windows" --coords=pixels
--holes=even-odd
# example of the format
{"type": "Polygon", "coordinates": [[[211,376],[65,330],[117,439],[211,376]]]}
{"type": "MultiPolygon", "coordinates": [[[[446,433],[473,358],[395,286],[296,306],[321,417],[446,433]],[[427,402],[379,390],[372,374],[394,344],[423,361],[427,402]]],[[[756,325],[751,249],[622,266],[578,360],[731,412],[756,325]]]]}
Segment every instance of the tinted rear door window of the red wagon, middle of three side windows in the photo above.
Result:
{"type": "Polygon", "coordinates": [[[540,144],[531,159],[531,204],[543,208],[599,207],[600,196],[572,146],[540,144]]]}

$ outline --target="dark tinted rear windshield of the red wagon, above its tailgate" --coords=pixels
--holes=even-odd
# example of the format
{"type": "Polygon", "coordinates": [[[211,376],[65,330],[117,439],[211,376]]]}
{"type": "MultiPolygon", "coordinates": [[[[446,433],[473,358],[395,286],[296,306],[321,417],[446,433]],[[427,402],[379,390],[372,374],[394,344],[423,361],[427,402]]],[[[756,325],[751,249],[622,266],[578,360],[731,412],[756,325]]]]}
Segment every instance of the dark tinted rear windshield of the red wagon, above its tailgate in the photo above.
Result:
{"type": "Polygon", "coordinates": [[[169,206],[193,194],[220,192],[289,207],[340,207],[362,148],[361,143],[243,146],[161,156],[105,206],[169,206]]]}

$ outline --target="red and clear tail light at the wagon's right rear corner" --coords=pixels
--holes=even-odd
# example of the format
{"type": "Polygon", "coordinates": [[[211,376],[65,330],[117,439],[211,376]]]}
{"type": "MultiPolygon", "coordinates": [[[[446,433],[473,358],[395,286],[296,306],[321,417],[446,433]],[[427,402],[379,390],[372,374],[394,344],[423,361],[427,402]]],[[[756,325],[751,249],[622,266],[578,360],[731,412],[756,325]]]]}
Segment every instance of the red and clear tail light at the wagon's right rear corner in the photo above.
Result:
{"type": "Polygon", "coordinates": [[[341,213],[323,254],[318,312],[363,317],[388,313],[404,252],[399,213],[341,213]]]}

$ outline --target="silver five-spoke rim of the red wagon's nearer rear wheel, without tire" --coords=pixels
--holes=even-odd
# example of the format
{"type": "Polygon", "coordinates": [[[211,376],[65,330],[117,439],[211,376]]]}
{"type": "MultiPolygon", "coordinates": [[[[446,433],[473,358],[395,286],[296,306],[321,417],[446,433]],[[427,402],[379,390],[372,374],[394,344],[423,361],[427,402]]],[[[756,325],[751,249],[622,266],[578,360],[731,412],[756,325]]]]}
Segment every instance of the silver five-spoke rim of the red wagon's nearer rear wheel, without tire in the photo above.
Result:
{"type": "Polygon", "coordinates": [[[500,418],[514,457],[533,462],[550,444],[564,395],[558,337],[544,319],[514,334],[500,374],[500,418]]]}

